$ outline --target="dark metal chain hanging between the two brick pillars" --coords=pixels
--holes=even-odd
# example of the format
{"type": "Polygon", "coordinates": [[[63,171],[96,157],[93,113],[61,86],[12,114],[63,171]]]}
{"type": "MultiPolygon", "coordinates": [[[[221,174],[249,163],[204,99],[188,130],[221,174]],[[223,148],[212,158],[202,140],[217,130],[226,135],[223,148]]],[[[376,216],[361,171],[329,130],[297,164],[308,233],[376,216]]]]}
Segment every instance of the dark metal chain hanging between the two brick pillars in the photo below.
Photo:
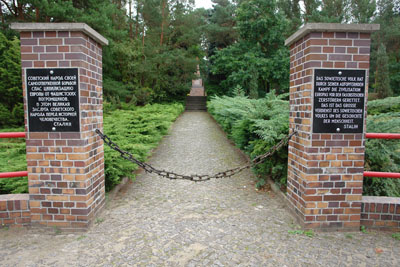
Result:
{"type": "Polygon", "coordinates": [[[264,162],[264,160],[266,158],[272,156],[278,149],[280,149],[282,146],[286,145],[289,142],[289,140],[292,138],[292,136],[295,135],[297,132],[293,131],[291,134],[282,138],[282,140],[279,141],[279,143],[277,143],[273,147],[271,147],[271,149],[267,153],[257,156],[256,158],[254,158],[251,161],[250,164],[242,166],[242,167],[236,167],[233,169],[229,169],[229,170],[226,170],[223,172],[218,172],[213,175],[207,175],[207,174],[205,174],[205,175],[198,175],[198,174],[182,175],[182,174],[177,174],[177,173],[170,172],[170,171],[158,170],[158,169],[154,168],[153,166],[151,166],[150,164],[147,164],[145,162],[142,162],[142,161],[136,159],[135,157],[133,157],[133,155],[130,152],[122,150],[116,143],[114,143],[111,140],[110,137],[103,134],[100,130],[96,129],[96,133],[100,136],[101,139],[103,139],[104,143],[106,143],[111,149],[120,153],[122,158],[139,165],[139,167],[141,167],[148,173],[156,173],[157,175],[159,175],[161,177],[165,177],[165,178],[168,178],[171,180],[180,179],[180,180],[189,180],[189,181],[194,181],[194,182],[202,182],[202,181],[208,181],[212,178],[218,179],[218,178],[231,177],[245,169],[249,169],[250,167],[254,167],[254,166],[264,162]]]}

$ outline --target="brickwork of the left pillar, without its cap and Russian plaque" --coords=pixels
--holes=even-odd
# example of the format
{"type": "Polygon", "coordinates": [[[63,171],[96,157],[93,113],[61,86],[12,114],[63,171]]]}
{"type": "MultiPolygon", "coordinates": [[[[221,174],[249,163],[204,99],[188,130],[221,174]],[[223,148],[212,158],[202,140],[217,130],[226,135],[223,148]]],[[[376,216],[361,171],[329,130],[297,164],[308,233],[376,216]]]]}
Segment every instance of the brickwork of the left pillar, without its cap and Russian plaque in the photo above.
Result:
{"type": "Polygon", "coordinates": [[[104,205],[102,47],[83,32],[22,31],[21,63],[27,125],[26,68],[78,68],[80,132],[29,133],[33,225],[85,228],[104,205]]]}

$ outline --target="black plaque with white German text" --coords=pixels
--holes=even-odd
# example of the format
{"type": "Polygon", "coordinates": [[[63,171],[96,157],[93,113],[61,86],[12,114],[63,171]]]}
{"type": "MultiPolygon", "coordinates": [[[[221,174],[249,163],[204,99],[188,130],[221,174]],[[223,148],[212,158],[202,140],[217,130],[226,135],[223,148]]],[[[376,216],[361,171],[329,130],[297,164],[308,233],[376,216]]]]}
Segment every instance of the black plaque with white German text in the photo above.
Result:
{"type": "Polygon", "coordinates": [[[365,70],[315,69],[314,133],[362,133],[365,70]]]}

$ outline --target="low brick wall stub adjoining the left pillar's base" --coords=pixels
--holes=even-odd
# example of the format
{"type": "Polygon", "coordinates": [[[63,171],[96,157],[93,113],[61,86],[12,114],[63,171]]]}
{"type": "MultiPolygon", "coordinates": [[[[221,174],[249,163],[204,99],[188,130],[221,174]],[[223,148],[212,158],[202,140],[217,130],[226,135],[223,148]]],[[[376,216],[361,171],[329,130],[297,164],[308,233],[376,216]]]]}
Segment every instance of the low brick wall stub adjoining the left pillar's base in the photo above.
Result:
{"type": "Polygon", "coordinates": [[[29,225],[30,215],[28,194],[0,195],[0,228],[29,225]]]}

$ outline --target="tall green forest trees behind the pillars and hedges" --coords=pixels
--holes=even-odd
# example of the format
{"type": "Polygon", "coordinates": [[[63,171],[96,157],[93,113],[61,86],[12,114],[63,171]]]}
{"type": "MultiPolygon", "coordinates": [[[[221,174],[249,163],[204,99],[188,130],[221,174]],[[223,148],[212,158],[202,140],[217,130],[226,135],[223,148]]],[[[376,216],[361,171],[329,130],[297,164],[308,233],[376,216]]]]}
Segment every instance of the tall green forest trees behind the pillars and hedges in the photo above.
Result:
{"type": "Polygon", "coordinates": [[[0,127],[23,123],[15,21],[87,23],[110,41],[106,100],[135,105],[183,100],[198,63],[208,95],[288,92],[284,40],[302,25],[379,23],[369,90],[400,95],[399,0],[213,0],[207,10],[193,0],[0,0],[0,19],[0,127]]]}

